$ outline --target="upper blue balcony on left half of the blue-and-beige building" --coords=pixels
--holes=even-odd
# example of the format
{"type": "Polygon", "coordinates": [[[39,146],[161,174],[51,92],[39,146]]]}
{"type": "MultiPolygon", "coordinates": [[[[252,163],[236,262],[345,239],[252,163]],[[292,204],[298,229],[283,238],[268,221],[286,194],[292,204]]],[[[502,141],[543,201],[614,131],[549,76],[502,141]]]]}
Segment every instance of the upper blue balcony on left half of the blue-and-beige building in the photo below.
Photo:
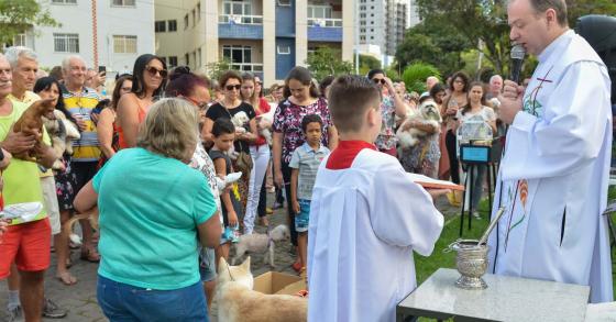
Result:
{"type": "Polygon", "coordinates": [[[218,36],[231,40],[263,40],[263,15],[221,14],[218,36]]]}

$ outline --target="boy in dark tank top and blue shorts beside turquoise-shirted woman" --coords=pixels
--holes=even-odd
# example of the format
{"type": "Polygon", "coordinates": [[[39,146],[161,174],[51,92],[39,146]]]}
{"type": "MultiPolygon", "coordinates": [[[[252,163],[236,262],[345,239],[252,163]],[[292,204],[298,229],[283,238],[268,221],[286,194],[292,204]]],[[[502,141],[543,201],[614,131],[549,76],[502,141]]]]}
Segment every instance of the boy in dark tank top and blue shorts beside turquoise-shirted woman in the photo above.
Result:
{"type": "MultiPolygon", "coordinates": [[[[210,157],[213,160],[216,174],[224,180],[227,175],[233,173],[231,159],[227,152],[233,146],[235,138],[235,126],[229,119],[219,118],[212,125],[213,146],[210,149],[210,157]]],[[[222,201],[222,216],[224,221],[224,232],[220,241],[220,247],[216,249],[216,263],[220,262],[220,257],[229,259],[229,248],[231,243],[238,242],[239,225],[238,218],[241,211],[240,198],[237,185],[223,190],[220,193],[222,201]]]]}

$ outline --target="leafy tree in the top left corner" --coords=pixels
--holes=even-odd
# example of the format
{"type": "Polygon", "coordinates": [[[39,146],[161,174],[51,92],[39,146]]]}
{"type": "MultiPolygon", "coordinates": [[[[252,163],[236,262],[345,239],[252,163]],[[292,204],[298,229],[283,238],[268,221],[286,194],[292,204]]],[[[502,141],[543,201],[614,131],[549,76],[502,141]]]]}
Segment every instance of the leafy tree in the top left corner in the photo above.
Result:
{"type": "Polygon", "coordinates": [[[0,0],[0,43],[12,44],[13,37],[32,26],[59,26],[35,0],[0,0]]]}

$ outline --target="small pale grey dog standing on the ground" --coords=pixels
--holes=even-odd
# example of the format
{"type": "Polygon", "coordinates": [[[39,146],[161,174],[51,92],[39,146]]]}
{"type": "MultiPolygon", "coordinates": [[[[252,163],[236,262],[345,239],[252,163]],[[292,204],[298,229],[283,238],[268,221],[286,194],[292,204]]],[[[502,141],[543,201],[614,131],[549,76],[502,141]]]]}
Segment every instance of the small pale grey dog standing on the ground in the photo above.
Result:
{"type": "Polygon", "coordinates": [[[274,242],[288,240],[290,232],[287,225],[277,225],[268,234],[249,234],[241,235],[240,241],[235,244],[235,256],[231,259],[231,265],[240,259],[246,253],[265,253],[270,256],[264,257],[264,263],[270,262],[270,266],[274,265],[274,242]],[[270,257],[270,258],[267,258],[270,257]]]}

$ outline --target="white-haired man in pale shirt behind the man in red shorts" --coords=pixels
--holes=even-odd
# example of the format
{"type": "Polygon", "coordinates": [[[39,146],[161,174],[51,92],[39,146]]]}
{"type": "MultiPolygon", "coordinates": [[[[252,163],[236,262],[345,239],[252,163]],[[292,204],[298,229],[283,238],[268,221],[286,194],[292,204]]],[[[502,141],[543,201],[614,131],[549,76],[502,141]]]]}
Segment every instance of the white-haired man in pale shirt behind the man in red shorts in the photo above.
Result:
{"type": "MultiPolygon", "coordinates": [[[[38,71],[38,56],[31,48],[23,46],[7,48],[4,56],[11,65],[12,70],[12,90],[8,96],[8,99],[16,104],[23,103],[24,106],[30,107],[33,102],[41,99],[41,97],[32,91],[34,84],[36,82],[36,74],[38,71]]],[[[51,145],[51,141],[47,136],[45,136],[44,142],[47,145],[51,145]]],[[[54,236],[55,242],[54,244],[57,246],[59,244],[57,241],[62,236],[59,234],[61,220],[54,174],[51,169],[47,169],[46,171],[40,171],[40,177],[44,206],[47,210],[52,235],[54,236]]],[[[21,307],[19,300],[20,280],[15,265],[11,266],[11,275],[8,278],[8,284],[9,301],[7,309],[9,310],[10,315],[19,315],[21,307]]],[[[55,303],[48,300],[43,308],[43,315],[47,318],[62,318],[66,315],[66,311],[57,308],[55,303]]]]}

